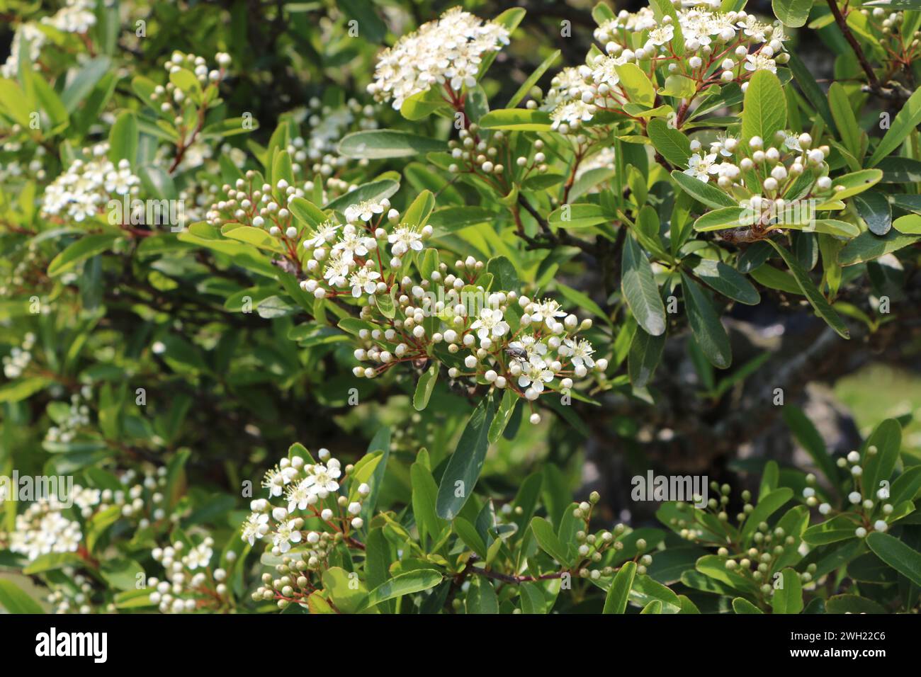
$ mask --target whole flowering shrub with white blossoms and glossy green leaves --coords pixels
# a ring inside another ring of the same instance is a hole
[[[0,606],[916,613],[915,0],[387,5],[11,5]]]

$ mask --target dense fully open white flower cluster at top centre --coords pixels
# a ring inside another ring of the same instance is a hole
[[[379,101],[393,99],[396,110],[436,84],[459,92],[476,85],[484,53],[507,44],[504,26],[453,7],[381,53],[367,91]]]

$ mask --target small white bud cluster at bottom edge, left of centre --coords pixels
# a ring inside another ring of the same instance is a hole
[[[214,545],[215,540],[205,536],[197,544],[176,541],[151,551],[165,577],[147,578],[146,587],[153,590],[150,601],[161,613],[215,612],[228,606],[227,570],[211,566]],[[226,557],[232,563],[236,554],[227,551]]]

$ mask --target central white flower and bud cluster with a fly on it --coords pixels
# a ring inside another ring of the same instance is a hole
[[[459,357],[467,353],[462,362],[455,359],[460,366],[449,368],[452,379],[485,381],[528,401],[547,388],[568,393],[574,379],[586,378],[589,370],[603,378],[608,361],[596,360],[592,345],[577,336],[591,327],[590,320],[579,321],[554,299],[485,291],[475,284],[484,263],[473,257],[456,262],[455,268],[457,274],[448,274],[447,264],[441,263],[431,280],[419,285],[408,277],[402,280],[392,319],[376,306],[362,309],[361,318],[374,328],[359,331],[363,344],[355,356],[371,364],[353,368],[356,377],[373,379],[395,364],[426,361],[447,350]],[[438,293],[431,291],[433,284]],[[531,423],[540,420],[540,414],[531,414]]]

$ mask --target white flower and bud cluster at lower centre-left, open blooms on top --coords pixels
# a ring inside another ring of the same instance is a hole
[[[269,552],[282,559],[275,566],[277,577],[263,574],[262,585],[252,594],[254,601],[277,601],[284,609],[291,601],[306,600],[316,589],[313,575],[321,575],[336,546],[362,547],[354,533],[364,527],[362,501],[371,493],[370,486],[352,481],[344,493],[354,466],[343,468],[329,449],[320,449],[317,458],[294,452],[282,459],[262,480],[269,498],[250,504],[252,512],[240,537],[251,545],[263,539],[270,542]]]

